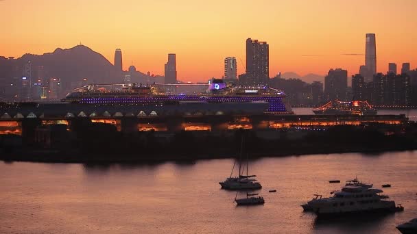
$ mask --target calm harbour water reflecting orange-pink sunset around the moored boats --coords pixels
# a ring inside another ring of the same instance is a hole
[[[417,218],[417,151],[305,155],[252,161],[265,205],[236,207],[220,190],[233,159],[156,165],[0,161],[0,233],[398,233]],[[359,179],[405,211],[316,220],[300,204]],[[276,193],[268,193],[275,189]]]

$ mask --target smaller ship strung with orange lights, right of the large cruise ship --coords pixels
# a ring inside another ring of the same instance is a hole
[[[314,114],[335,115],[375,115],[377,109],[372,108],[367,101],[329,101],[322,107],[313,109]]]

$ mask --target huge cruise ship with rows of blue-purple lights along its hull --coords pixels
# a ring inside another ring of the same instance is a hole
[[[243,103],[252,103],[249,106],[256,103],[266,103],[265,113],[294,114],[291,107],[285,103],[285,93],[267,86],[226,87],[225,83],[211,83],[208,90],[202,94],[171,94],[156,85],[136,86],[134,83],[122,85],[118,90],[98,87],[78,88],[75,92],[67,94],[62,101],[93,105],[156,105],[162,107],[184,103],[205,104],[207,107],[213,103],[235,103],[240,106]]]

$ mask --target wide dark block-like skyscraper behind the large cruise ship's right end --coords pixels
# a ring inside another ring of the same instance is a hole
[[[246,40],[247,84],[267,85],[270,79],[270,49],[267,42]]]

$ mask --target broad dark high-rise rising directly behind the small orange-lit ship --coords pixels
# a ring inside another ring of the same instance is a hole
[[[326,101],[345,101],[346,89],[348,88],[348,71],[342,68],[330,69],[324,77],[324,92]]]

